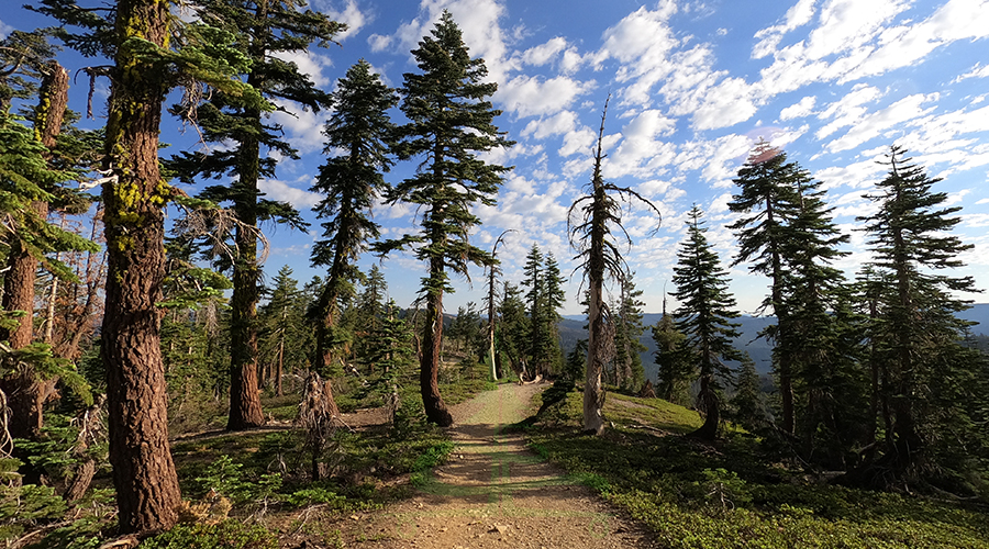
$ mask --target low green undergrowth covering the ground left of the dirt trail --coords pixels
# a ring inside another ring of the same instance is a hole
[[[377,404],[385,394],[382,385],[390,394],[392,383],[401,406],[393,424],[337,429],[318,458],[326,472],[319,481],[311,478],[311,453],[301,429],[203,435],[174,444],[184,497],[207,503],[222,497],[229,503],[224,513],[235,517],[312,505],[351,513],[408,497],[413,486],[430,481],[431,469],[443,463],[454,447],[444,429],[425,422],[415,370],[408,365],[389,378],[341,384],[347,392],[337,393],[337,400],[352,410]],[[441,393],[448,404],[497,386],[482,365],[457,363],[446,370]],[[265,411],[291,418],[298,406],[292,399],[267,400],[274,407]]]

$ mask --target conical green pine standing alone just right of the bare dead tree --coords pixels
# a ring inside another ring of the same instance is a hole
[[[732,378],[726,362],[742,359],[732,345],[740,324],[731,320],[740,315],[734,310],[735,299],[727,291],[727,271],[721,268],[704,236],[708,229],[703,226],[703,212],[694,204],[687,216],[687,239],[680,243],[674,268],[677,291],[673,295],[680,301],[674,316],[677,328],[687,336],[684,345],[700,379],[697,400],[704,424],[693,435],[713,439],[721,421],[719,391],[722,382]]]

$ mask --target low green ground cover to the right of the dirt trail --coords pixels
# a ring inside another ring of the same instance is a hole
[[[531,447],[652,527],[658,547],[989,548],[985,507],[812,482],[766,464],[743,433],[682,436],[697,413],[656,399],[609,393],[610,428],[584,435],[581,397],[546,411]]]

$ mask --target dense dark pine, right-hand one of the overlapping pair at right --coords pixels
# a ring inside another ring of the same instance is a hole
[[[782,288],[789,330],[777,346],[792,357],[797,430],[803,459],[831,468],[845,466],[845,453],[863,423],[864,394],[855,352],[845,277],[832,264],[848,254],[848,240],[831,219],[820,182],[796,163],[788,181],[794,186],[798,212],[788,228],[781,257],[789,267]]]

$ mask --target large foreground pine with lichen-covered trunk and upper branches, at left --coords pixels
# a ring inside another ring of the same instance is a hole
[[[165,267],[163,208],[178,193],[158,167],[158,126],[167,92],[179,81],[207,81],[226,94],[259,101],[231,78],[244,58],[231,35],[201,23],[176,24],[171,2],[122,0],[115,9],[43,0],[38,11],[80,26],[63,40],[84,55],[111,59],[103,183],[108,272],[100,358],[107,369],[110,461],[122,533],[168,528],[181,501],[169,451],[160,350]],[[112,18],[105,19],[104,15]],[[191,46],[191,47],[190,47]]]

